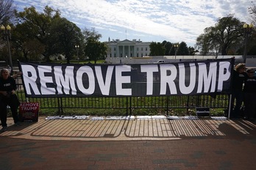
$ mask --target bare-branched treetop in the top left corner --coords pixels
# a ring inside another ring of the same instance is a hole
[[[7,24],[15,16],[15,6],[13,0],[0,1],[0,23]]]

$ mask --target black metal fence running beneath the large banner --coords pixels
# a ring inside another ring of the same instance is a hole
[[[37,102],[40,108],[55,108],[63,113],[64,108],[122,108],[127,115],[137,108],[163,108],[166,114],[171,108],[224,108],[229,106],[229,95],[193,95],[160,97],[40,97],[26,98],[21,78],[17,78],[17,95],[21,102]]]

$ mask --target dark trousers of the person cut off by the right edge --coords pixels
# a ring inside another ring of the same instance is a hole
[[[244,93],[244,113],[249,119],[256,114],[256,93]]]

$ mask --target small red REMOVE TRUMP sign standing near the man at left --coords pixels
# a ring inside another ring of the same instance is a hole
[[[39,103],[21,103],[19,111],[21,122],[38,122]]]

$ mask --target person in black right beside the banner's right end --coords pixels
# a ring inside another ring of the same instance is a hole
[[[239,63],[235,66],[235,70],[232,74],[231,118],[239,118],[242,116],[241,106],[243,103],[243,83],[248,77],[245,70],[246,65],[244,63]]]

